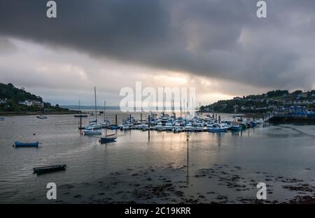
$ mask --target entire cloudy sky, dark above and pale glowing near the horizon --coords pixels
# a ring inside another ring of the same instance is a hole
[[[315,89],[315,1],[0,0],[0,82],[62,105],[195,87],[197,102]]]

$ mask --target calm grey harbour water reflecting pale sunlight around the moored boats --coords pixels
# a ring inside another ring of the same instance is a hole
[[[118,122],[127,114],[106,112]],[[226,115],[225,115],[226,116]],[[137,166],[186,164],[186,133],[117,131],[117,142],[100,145],[98,139],[81,136],[79,118],[73,115],[6,117],[0,121],[0,203],[27,203],[45,194],[46,184],[57,185],[98,180],[116,170]],[[139,114],[134,117],[140,117]],[[102,116],[99,116],[101,119]],[[83,118],[83,122],[94,117]],[[35,136],[34,136],[35,133]],[[261,126],[237,133],[191,133],[190,172],[215,163],[255,171],[312,180],[315,178],[315,126]],[[38,148],[14,148],[16,140],[35,141]],[[32,168],[66,163],[64,172],[37,176]]]

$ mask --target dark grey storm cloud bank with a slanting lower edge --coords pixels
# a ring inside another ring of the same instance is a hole
[[[0,34],[272,88],[314,86],[315,1],[2,0]]]

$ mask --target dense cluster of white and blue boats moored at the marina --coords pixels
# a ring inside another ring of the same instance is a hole
[[[209,132],[226,132],[226,131],[240,131],[241,129],[253,128],[264,122],[263,119],[243,119],[236,117],[233,119],[216,119],[214,115],[202,118],[201,115],[195,117],[176,117],[175,115],[169,116],[162,113],[160,117],[151,114],[150,119],[139,121],[134,117],[128,117],[123,120],[121,125],[112,125],[109,120],[102,124],[92,124],[85,127],[85,134],[102,134],[102,128],[120,129],[122,131],[130,129],[139,129],[142,131],[155,130],[155,131],[173,131],[179,133],[183,131],[209,131]]]

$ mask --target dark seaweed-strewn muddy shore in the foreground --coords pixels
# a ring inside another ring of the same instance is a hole
[[[102,179],[61,184],[55,201],[29,196],[29,203],[179,203],[296,204],[314,203],[314,180],[304,181],[265,172],[244,174],[244,168],[214,164],[187,177],[187,166],[138,166],[109,173]],[[312,168],[301,170],[314,170]],[[38,177],[40,178],[40,177]],[[267,184],[267,199],[258,200],[256,185]]]

